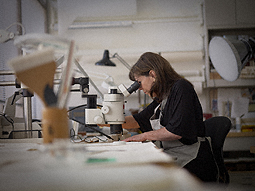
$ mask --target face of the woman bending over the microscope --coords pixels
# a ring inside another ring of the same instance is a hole
[[[143,90],[145,94],[150,95],[151,87],[155,82],[155,76],[149,73],[149,76],[135,76],[135,80],[140,83],[139,90]]]

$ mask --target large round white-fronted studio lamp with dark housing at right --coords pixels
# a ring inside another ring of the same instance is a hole
[[[227,81],[235,81],[243,67],[254,57],[255,40],[213,37],[209,43],[209,56],[219,75]]]

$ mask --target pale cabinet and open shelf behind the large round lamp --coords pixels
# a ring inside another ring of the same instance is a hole
[[[206,87],[250,87],[255,78],[241,78],[234,82],[221,79],[210,62],[208,45],[213,36],[255,37],[254,0],[205,0],[205,75]]]

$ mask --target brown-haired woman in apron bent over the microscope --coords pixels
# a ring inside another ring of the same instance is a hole
[[[202,181],[216,181],[217,166],[205,138],[202,107],[193,85],[158,54],[144,53],[129,78],[153,98],[143,111],[126,117],[123,128],[143,133],[124,141],[160,141],[164,152]]]

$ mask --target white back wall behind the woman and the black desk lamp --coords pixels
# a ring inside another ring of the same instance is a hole
[[[195,70],[201,73],[201,77],[204,65],[201,2],[202,0],[61,0],[58,1],[58,32],[62,37],[75,40],[82,67],[102,92],[106,90],[101,88],[102,79],[95,72],[101,73],[100,76],[112,76],[116,84],[131,84],[128,70],[117,59],[113,59],[117,64],[115,68],[95,66],[105,49],[110,51],[110,55],[117,52],[130,65],[146,51],[161,52],[178,72]],[[132,21],[133,24],[131,27],[68,29],[74,21],[116,19]],[[200,84],[202,78],[197,80]],[[91,88],[91,93],[94,92]],[[128,109],[139,107],[137,96],[128,98]],[[72,94],[69,104],[84,102],[79,97],[79,94]],[[143,100],[143,95],[141,99]]]

